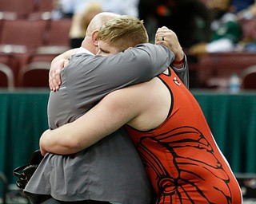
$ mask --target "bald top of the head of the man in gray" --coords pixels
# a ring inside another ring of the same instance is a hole
[[[86,36],[90,36],[91,33],[100,29],[106,22],[113,20],[114,18],[119,18],[120,16],[120,14],[114,14],[111,12],[102,12],[96,14],[87,27]]]

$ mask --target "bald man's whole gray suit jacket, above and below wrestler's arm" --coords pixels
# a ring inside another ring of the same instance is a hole
[[[173,60],[169,49],[150,44],[110,57],[74,55],[62,72],[61,89],[50,93],[50,128],[74,121],[117,88],[150,80]],[[75,155],[47,154],[25,191],[62,201],[154,203],[142,162],[123,128]]]

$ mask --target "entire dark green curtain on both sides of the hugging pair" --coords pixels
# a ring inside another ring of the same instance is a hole
[[[218,147],[235,173],[256,172],[256,92],[192,90]],[[14,183],[15,167],[28,163],[48,128],[49,92],[0,92],[0,171]]]

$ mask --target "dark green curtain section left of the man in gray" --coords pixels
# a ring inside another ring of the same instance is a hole
[[[15,167],[29,162],[48,127],[46,92],[0,93],[0,171],[14,183]]]

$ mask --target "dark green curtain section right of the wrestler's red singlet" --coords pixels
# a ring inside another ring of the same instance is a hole
[[[194,96],[232,170],[256,172],[256,92],[194,92]]]

